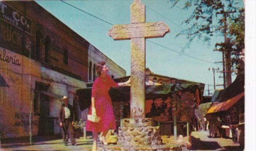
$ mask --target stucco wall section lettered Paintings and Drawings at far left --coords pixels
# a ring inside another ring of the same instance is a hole
[[[0,54],[0,74],[9,86],[0,87],[1,137],[28,136],[30,112],[33,113],[31,103],[34,96],[31,90],[35,87],[35,77],[40,76],[40,64],[1,47]],[[20,65],[6,61],[6,56],[15,56]],[[32,117],[32,132],[36,133],[38,119],[33,115]]]

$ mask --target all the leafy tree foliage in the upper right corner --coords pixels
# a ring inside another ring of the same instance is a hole
[[[176,35],[187,36],[188,48],[195,38],[209,43],[212,36],[223,35],[226,41],[216,44],[216,49],[230,51],[233,69],[237,69],[238,73],[244,71],[244,7],[238,7],[237,0],[170,1],[171,8],[184,3],[183,10],[193,10],[192,14],[182,22],[188,28]]]

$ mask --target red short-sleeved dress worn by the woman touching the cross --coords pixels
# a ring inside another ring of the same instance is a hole
[[[110,75],[106,76],[106,81],[99,77],[94,81],[91,97],[94,97],[96,115],[100,120],[98,123],[87,120],[87,131],[104,132],[106,129],[116,129],[112,101],[108,93],[111,87],[118,87],[118,83],[114,82]],[[89,114],[91,114],[91,106]]]

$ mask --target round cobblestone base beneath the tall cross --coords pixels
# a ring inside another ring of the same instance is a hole
[[[153,127],[152,118],[126,118],[123,127],[118,128],[117,145],[98,146],[99,151],[169,151],[162,144],[159,127]]]

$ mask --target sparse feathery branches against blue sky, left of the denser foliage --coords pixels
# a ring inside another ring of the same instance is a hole
[[[170,0],[173,2],[171,8],[176,6],[178,2],[184,3],[182,9],[193,9],[193,13],[184,20],[183,23],[188,25],[188,29],[181,31],[180,35],[187,35],[187,38],[192,41],[194,38],[204,38],[214,36],[214,33],[223,33],[224,25],[229,21],[234,20],[238,14],[238,7],[234,6],[233,0]],[[229,12],[229,13],[227,13]],[[225,19],[223,14],[225,14]],[[214,22],[214,19],[218,22]]]

